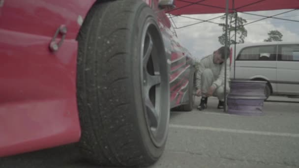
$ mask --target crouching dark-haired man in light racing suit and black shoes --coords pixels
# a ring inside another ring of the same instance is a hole
[[[230,61],[225,60],[225,50],[227,50],[227,57],[230,55],[229,48],[220,47],[212,55],[206,56],[195,66],[196,74],[196,95],[202,96],[198,110],[202,111],[208,106],[208,97],[214,96],[219,99],[218,109],[224,108],[224,72],[226,68],[226,90],[229,92],[230,80]]]

